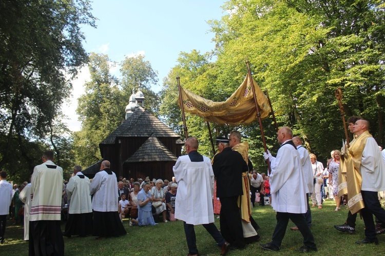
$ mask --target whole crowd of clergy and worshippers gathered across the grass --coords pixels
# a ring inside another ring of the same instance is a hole
[[[310,229],[311,207],[321,210],[323,200],[329,198],[335,200],[335,211],[342,204],[349,208],[346,222],[335,225],[337,230],[354,233],[360,211],[365,238],[357,243],[377,244],[376,235],[385,232],[385,210],[378,194],[385,190],[385,150],[381,152],[369,134],[367,120],[352,117],[348,123],[354,140],[350,147],[333,150],[325,168],[302,146],[300,137],[293,137],[290,127],[281,127],[276,157],[269,151],[263,154],[271,166],[269,176],[253,170],[248,143],[241,142],[239,131],[228,138],[217,137],[218,153],[212,160],[198,153],[197,138],[187,138],[187,155],[178,158],[170,182],[117,178],[105,160],[92,180],[75,165],[72,177],[63,184],[62,168],[54,164],[53,152],[46,151],[43,163],[34,168],[31,183],[12,187],[6,172],[0,172],[0,243],[4,243],[8,216],[15,225],[24,220],[30,255],[64,255],[63,236],[122,236],[126,234],[124,219],[130,226],[157,225],[159,219],[164,223],[180,220],[188,255],[199,255],[195,225],[203,225],[224,255],[230,248],[243,249],[259,241],[252,208],[256,203],[264,206],[266,201],[276,211],[277,224],[272,241],[259,245],[279,251],[288,220],[292,220],[295,226],[291,229],[303,236],[298,250],[311,252],[317,251]],[[215,214],[220,229],[214,225]],[[67,222],[62,232],[63,219]]]

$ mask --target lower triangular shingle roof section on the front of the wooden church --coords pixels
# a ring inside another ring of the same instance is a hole
[[[125,162],[177,161],[177,157],[156,137],[149,137]]]

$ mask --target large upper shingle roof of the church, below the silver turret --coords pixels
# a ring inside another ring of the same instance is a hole
[[[151,112],[139,107],[100,144],[114,144],[118,137],[150,137],[151,135],[155,137],[180,137]]]

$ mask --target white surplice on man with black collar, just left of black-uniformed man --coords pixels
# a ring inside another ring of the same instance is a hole
[[[203,162],[191,162],[188,156],[181,156],[172,168],[178,183],[175,218],[187,224],[214,222],[214,173],[210,159],[205,156],[203,159]]]

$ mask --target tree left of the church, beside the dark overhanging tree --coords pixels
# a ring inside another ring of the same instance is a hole
[[[78,99],[76,113],[82,121],[80,132],[74,134],[76,161],[89,166],[101,159],[99,143],[124,120],[127,104],[118,88],[119,80],[110,74],[114,63],[105,54],[90,53],[91,81],[86,93]]]

